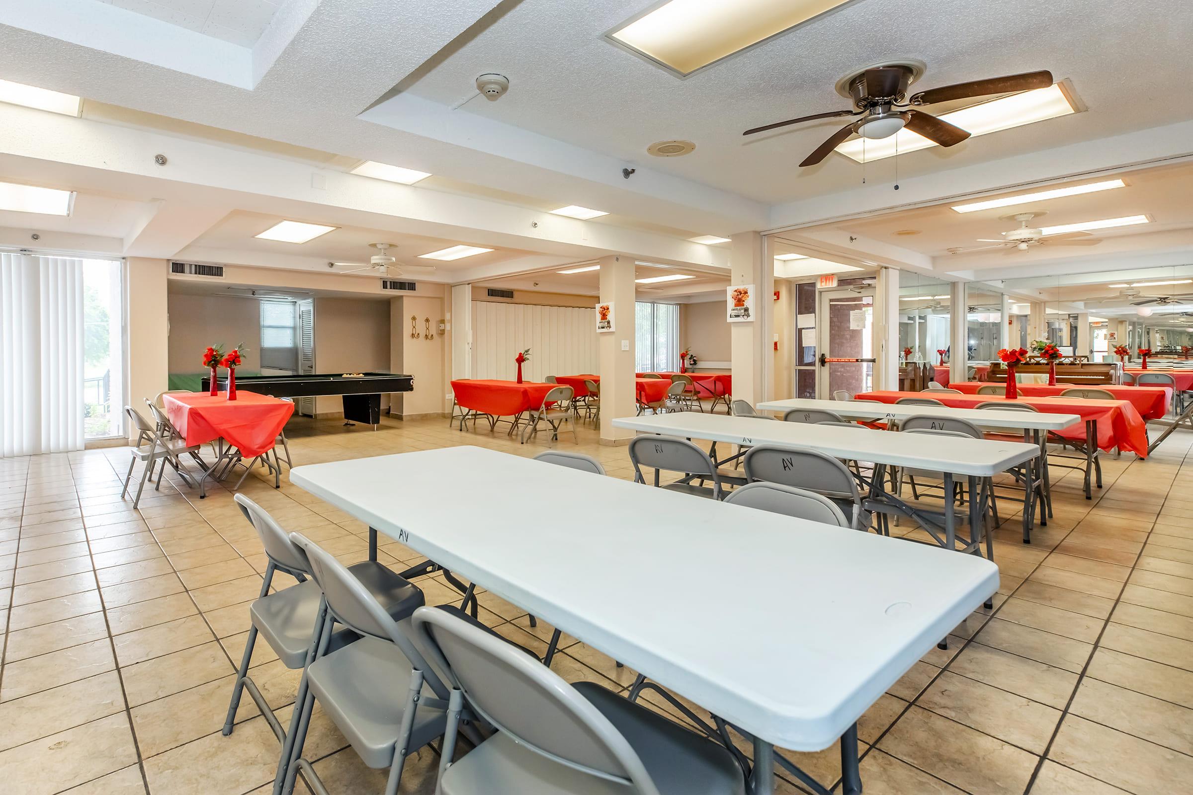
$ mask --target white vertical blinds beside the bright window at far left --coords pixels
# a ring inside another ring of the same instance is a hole
[[[82,448],[82,267],[0,254],[0,458]]]

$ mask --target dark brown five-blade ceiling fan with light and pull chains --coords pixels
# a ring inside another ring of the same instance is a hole
[[[821,162],[854,132],[866,138],[886,138],[905,126],[908,130],[920,133],[933,143],[938,143],[941,147],[952,147],[968,138],[970,133],[944,119],[915,110],[916,107],[973,97],[990,97],[994,94],[1010,94],[1036,88],[1047,88],[1052,85],[1051,72],[1026,72],[1018,75],[971,80],[969,82],[953,83],[952,86],[929,88],[909,98],[907,89],[921,74],[923,74],[922,63],[891,63],[863,69],[846,76],[836,85],[839,94],[853,100],[853,110],[802,116],[796,119],[775,122],[774,124],[746,130],[742,135],[766,132],[767,130],[799,124],[801,122],[812,122],[815,119],[832,119],[843,116],[861,117],[829,136],[824,143],[799,163],[801,167],[815,166]]]

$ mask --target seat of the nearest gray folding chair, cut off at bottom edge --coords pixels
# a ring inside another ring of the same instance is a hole
[[[599,684],[574,685],[633,747],[661,795],[744,795],[741,768],[719,745]],[[625,795],[623,784],[554,762],[497,733],[443,776],[444,795]]]

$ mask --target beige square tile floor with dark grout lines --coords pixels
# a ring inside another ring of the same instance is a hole
[[[600,447],[589,428],[579,446],[564,439],[561,447],[631,477],[625,448]],[[450,430],[445,420],[387,422],[376,433],[339,422],[291,428],[296,462],[460,443],[524,455],[550,445]],[[1191,443],[1179,431],[1151,460],[1107,456],[1093,502],[1076,476],[1061,478],[1056,517],[1031,546],[1003,501],[995,608],[975,613],[947,651],[926,654],[861,720],[869,795],[1193,788]],[[124,448],[0,460],[0,789],[268,791],[278,745],[252,700],[234,734],[220,733],[261,546],[223,489],[199,501],[167,482],[132,510],[119,496],[128,461]],[[251,477],[243,490],[345,560],[364,557],[366,528],[301,489]],[[395,567],[418,559],[396,544],[382,557]],[[439,579],[420,584],[428,603],[453,597]],[[531,629],[492,594],[480,601],[499,632],[544,648],[550,628]],[[596,650],[567,644],[555,664],[565,678],[614,690],[632,681]],[[285,723],[297,672],[261,642],[252,675]],[[332,793],[382,791],[384,771],[365,769],[319,713],[308,752]],[[822,780],[840,772],[835,750],[793,756]],[[435,765],[433,752],[419,752],[401,791],[432,793]],[[786,781],[778,790],[801,791]]]

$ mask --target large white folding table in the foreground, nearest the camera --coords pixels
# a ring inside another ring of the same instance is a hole
[[[977,555],[478,447],[290,479],[738,727],[759,795],[773,789],[773,746],[839,738],[842,789],[859,793],[858,719],[999,586]],[[710,583],[722,597],[692,596]]]

